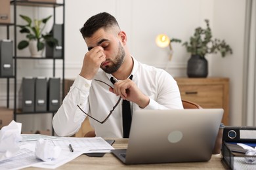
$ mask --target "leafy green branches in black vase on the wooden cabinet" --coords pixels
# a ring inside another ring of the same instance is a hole
[[[224,57],[226,54],[232,54],[232,48],[224,40],[213,39],[209,20],[205,20],[206,28],[197,27],[190,41],[182,45],[186,47],[187,52],[191,54],[188,60],[187,75],[188,77],[206,77],[208,74],[208,64],[205,55],[221,53]]]

